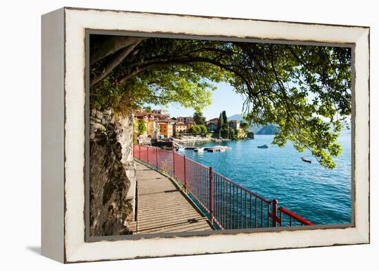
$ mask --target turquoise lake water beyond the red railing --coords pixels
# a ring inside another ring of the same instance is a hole
[[[342,154],[335,159],[334,170],[323,168],[307,150],[297,152],[291,143],[284,148],[270,144],[274,136],[256,135],[245,139],[201,145],[227,145],[225,152],[181,151],[188,158],[212,166],[228,177],[266,199],[278,199],[283,206],[316,224],[351,222],[351,135],[341,134]],[[300,160],[305,157],[312,163]]]

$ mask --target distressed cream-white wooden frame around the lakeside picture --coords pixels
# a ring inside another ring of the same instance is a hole
[[[89,33],[349,46],[352,223],[149,238],[85,236]],[[87,99],[87,101],[86,101]],[[369,243],[369,28],[62,8],[42,17],[42,254],[64,263]],[[359,132],[354,132],[359,131]]]

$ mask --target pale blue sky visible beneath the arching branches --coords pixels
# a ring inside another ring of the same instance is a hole
[[[227,83],[216,83],[217,90],[212,92],[212,105],[203,109],[203,116],[209,120],[216,118],[220,112],[225,110],[227,116],[242,113],[243,96],[233,91],[233,88]],[[156,108],[152,106],[152,108]],[[194,114],[194,109],[183,108],[183,106],[170,104],[167,107],[167,112],[171,117],[187,117]]]

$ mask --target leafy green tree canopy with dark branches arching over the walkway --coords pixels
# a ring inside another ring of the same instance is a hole
[[[321,165],[332,157],[351,112],[351,49],[268,43],[91,35],[91,106],[122,112],[144,103],[201,110],[214,83],[245,96],[249,123],[274,123],[279,146],[292,141]]]

